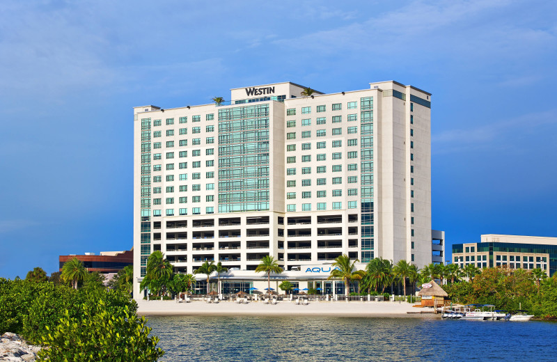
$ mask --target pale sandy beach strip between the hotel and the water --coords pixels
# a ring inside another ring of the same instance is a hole
[[[430,308],[414,308],[405,302],[391,301],[310,301],[308,305],[297,305],[294,301],[279,301],[277,304],[264,304],[252,301],[249,304],[236,304],[233,301],[221,301],[207,304],[205,301],[176,303],[175,301],[138,302],[139,315],[319,315],[338,317],[425,317],[432,314]],[[407,312],[412,312],[408,314]],[[416,314],[418,313],[418,314]]]

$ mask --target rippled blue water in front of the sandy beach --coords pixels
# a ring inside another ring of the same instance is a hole
[[[557,323],[149,317],[161,361],[557,361]]]

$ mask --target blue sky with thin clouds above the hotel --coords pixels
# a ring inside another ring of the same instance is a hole
[[[432,227],[557,237],[557,3],[11,1],[0,276],[132,246],[132,107],[293,81],[432,96]]]

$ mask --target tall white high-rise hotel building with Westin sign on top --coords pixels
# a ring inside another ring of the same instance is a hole
[[[395,81],[303,90],[266,84],[221,104],[134,108],[136,297],[155,250],[175,272],[221,261],[227,291],[265,288],[253,272],[264,255],[285,269],[277,285],[332,293],[344,287],[325,281],[327,269],[343,253],[443,262],[444,233],[431,229],[430,93]]]

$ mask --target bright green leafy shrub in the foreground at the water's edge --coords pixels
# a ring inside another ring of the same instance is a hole
[[[157,348],[159,339],[149,337],[151,329],[144,317],[138,319],[127,306],[116,315],[104,301],[83,304],[83,313],[72,317],[64,311],[54,328],[47,326],[47,336],[42,336],[40,360],[52,362],[96,361],[157,361],[164,352]]]

